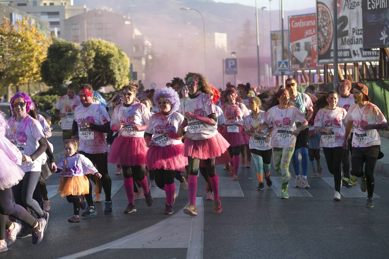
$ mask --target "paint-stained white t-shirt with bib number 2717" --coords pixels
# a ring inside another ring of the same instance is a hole
[[[252,118],[252,111],[250,112],[249,116],[246,116],[244,118],[244,130],[245,131],[250,131],[253,133],[257,133],[261,131],[261,125],[263,122],[265,122],[265,111],[259,110],[259,114],[257,118]],[[254,137],[250,137],[250,142],[249,142],[249,148],[250,149],[258,149],[258,150],[268,150],[272,148],[271,142],[269,141],[266,143],[265,137],[269,134],[269,128],[266,128],[261,134],[259,134],[259,138],[255,139]]]

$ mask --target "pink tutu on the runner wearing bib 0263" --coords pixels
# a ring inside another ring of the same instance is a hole
[[[184,156],[208,159],[221,156],[230,146],[219,132],[209,139],[193,140],[185,138]]]

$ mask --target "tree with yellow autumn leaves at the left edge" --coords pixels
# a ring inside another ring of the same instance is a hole
[[[40,65],[51,44],[27,19],[16,25],[17,29],[7,19],[0,24],[0,83],[7,87],[8,99],[11,86],[40,80]]]

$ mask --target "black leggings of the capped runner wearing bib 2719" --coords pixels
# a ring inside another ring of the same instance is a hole
[[[356,177],[365,177],[366,176],[366,186],[367,186],[367,197],[373,198],[374,192],[374,169],[375,163],[377,162],[376,157],[368,156],[352,156],[351,157],[351,174]],[[363,163],[365,163],[364,175],[363,175]]]

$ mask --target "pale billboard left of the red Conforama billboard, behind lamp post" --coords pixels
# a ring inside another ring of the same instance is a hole
[[[281,71],[278,70],[278,61],[289,60],[288,58],[288,30],[284,30],[284,58],[282,58],[281,31],[270,31],[270,48],[272,50],[272,75],[280,76]],[[287,75],[287,72],[285,72]]]

